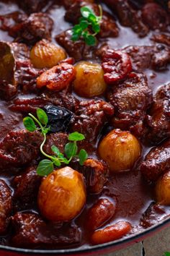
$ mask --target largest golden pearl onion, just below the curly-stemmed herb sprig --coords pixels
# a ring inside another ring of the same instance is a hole
[[[38,206],[42,216],[49,221],[71,221],[85,203],[84,178],[70,167],[53,171],[40,185]]]

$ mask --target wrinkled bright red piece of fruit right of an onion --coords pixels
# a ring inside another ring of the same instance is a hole
[[[132,71],[132,64],[128,54],[109,49],[102,58],[102,68],[105,82],[112,84],[124,79]]]

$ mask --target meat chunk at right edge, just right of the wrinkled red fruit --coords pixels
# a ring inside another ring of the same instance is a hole
[[[158,44],[156,46],[128,46],[124,50],[131,57],[133,69],[166,69],[170,63],[170,48]]]

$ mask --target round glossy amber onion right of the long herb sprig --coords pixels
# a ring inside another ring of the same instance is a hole
[[[141,146],[130,132],[114,129],[100,142],[98,151],[110,171],[128,171],[140,158]]]

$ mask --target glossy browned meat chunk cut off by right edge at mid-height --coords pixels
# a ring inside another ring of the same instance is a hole
[[[149,142],[159,143],[170,137],[170,83],[159,88],[154,102],[146,116]]]

